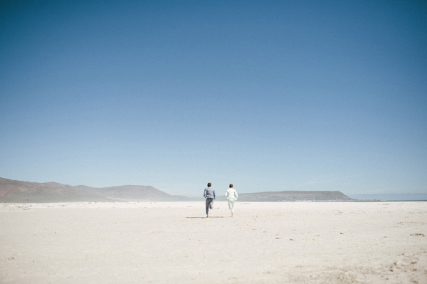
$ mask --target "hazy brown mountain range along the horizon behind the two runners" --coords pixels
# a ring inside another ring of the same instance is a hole
[[[171,195],[152,186],[112,186],[95,188],[56,182],[21,182],[0,178],[0,202],[43,203],[75,201],[198,201],[201,198]],[[218,201],[225,201],[217,194]],[[268,191],[241,193],[238,201],[352,201],[341,191]]]

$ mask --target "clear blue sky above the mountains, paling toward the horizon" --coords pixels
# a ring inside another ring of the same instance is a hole
[[[427,193],[425,1],[1,1],[0,177]]]

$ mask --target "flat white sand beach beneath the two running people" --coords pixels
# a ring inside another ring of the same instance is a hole
[[[427,202],[0,204],[0,283],[427,283]]]

